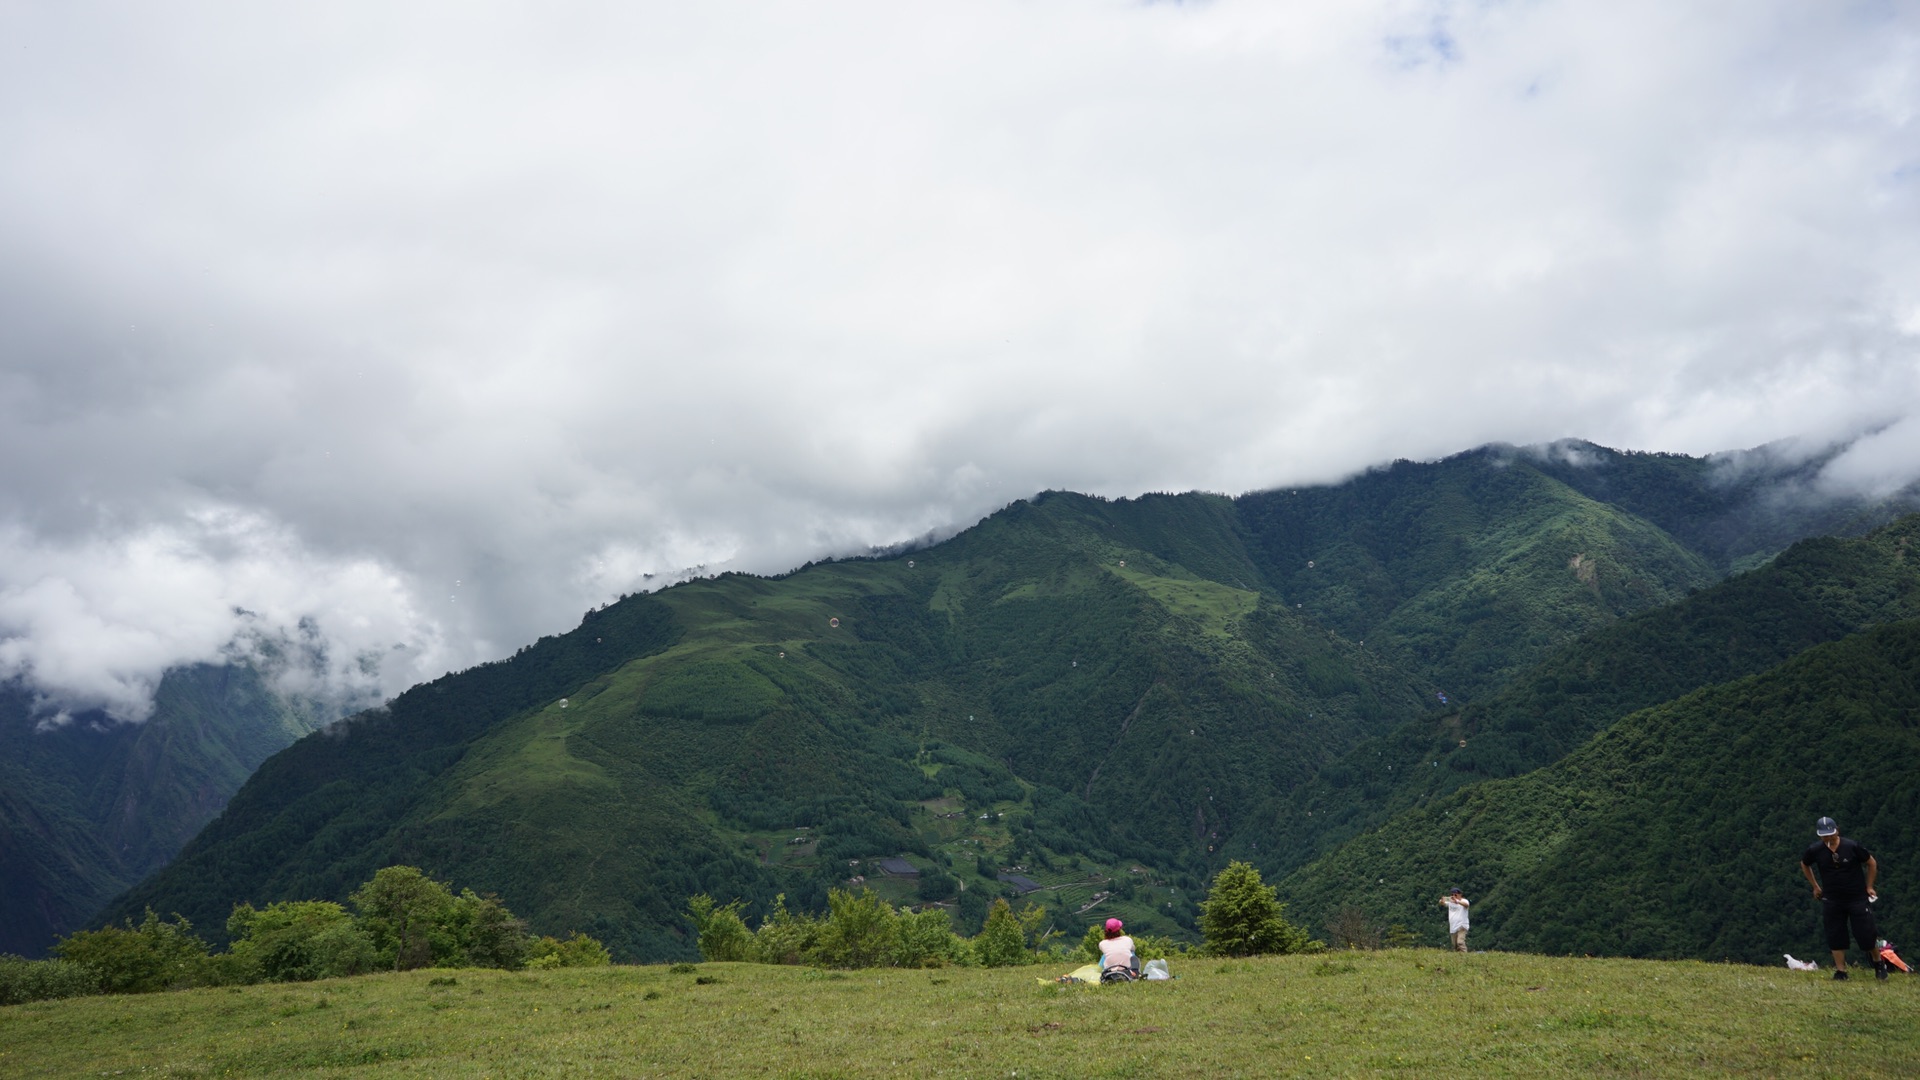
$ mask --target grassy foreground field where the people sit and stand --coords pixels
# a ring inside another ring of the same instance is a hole
[[[417,970],[0,1009],[0,1076],[1920,1074],[1920,978],[1402,949],[1054,969]]]

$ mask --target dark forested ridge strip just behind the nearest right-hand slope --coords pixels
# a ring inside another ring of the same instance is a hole
[[[1265,838],[1261,863],[1279,876],[1396,813],[1551,765],[1636,709],[1916,619],[1916,538],[1920,515],[1859,540],[1803,540],[1757,571],[1561,648],[1484,701],[1365,740],[1275,801],[1273,830],[1294,844]]]

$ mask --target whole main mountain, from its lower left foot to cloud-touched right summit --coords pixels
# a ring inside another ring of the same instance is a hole
[[[1229,851],[1311,849],[1275,799],[1354,748],[1430,742],[1461,701],[1492,736],[1517,673],[1834,515],[1753,471],[1576,450],[1238,500],[1044,494],[916,552],[626,598],[282,751],[104,917],[217,936],[236,901],[411,863],[628,959],[687,955],[693,892],[818,907],[849,880],[964,932],[1000,894],[1183,932]],[[1667,525],[1584,494],[1609,488]],[[1515,753],[1576,746],[1582,709]]]

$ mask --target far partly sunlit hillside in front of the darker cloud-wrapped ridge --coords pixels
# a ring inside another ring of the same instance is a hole
[[[1455,700],[1718,577],[1659,527],[1496,452],[1240,505],[1281,596]]]

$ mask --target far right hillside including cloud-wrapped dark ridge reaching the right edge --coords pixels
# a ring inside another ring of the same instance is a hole
[[[1920,509],[1914,492],[1820,496],[1822,461],[1486,446],[1236,505],[1281,596],[1471,701],[1584,632],[1795,540]]]

